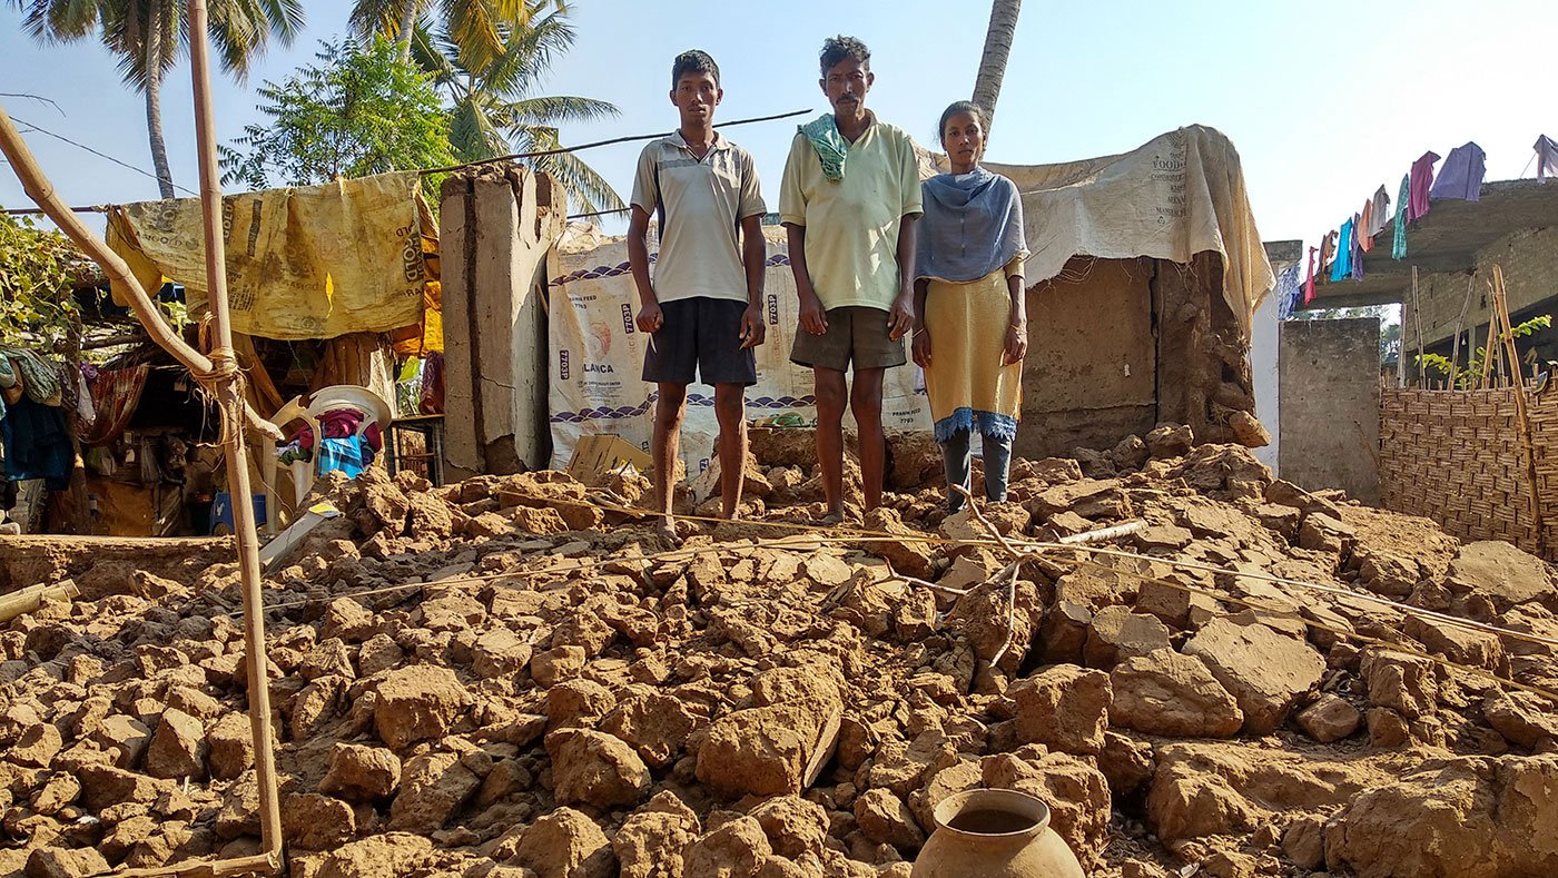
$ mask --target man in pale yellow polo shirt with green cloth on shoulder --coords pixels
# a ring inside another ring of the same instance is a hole
[[[796,132],[779,190],[779,220],[801,297],[801,332],[790,360],[812,367],[824,522],[840,522],[846,399],[860,428],[866,511],[882,504],[882,377],[907,361],[902,339],[915,321],[921,195],[908,134],[866,109],[876,83],[871,50],[855,37],[829,37],[821,68],[818,84],[834,112]],[[851,366],[852,391],[844,380]]]

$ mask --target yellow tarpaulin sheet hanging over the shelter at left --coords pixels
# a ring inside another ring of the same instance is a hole
[[[422,324],[419,188],[405,171],[224,198],[232,330],[296,341]],[[117,207],[108,241],[148,293],[167,277],[192,314],[206,310],[198,198]]]

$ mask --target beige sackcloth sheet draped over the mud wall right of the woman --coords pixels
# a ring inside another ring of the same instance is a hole
[[[1119,156],[985,167],[1011,177],[1022,193],[1028,286],[1056,277],[1073,255],[1189,263],[1198,252],[1217,251],[1223,297],[1250,338],[1251,318],[1276,277],[1250,210],[1239,153],[1221,132],[1192,125]]]

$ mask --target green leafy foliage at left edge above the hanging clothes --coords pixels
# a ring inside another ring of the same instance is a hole
[[[0,344],[53,349],[72,332],[79,262],[59,232],[0,213]]]

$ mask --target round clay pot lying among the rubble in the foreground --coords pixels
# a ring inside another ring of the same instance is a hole
[[[913,878],[1084,878],[1050,830],[1050,806],[1013,789],[971,789],[936,805]]]

